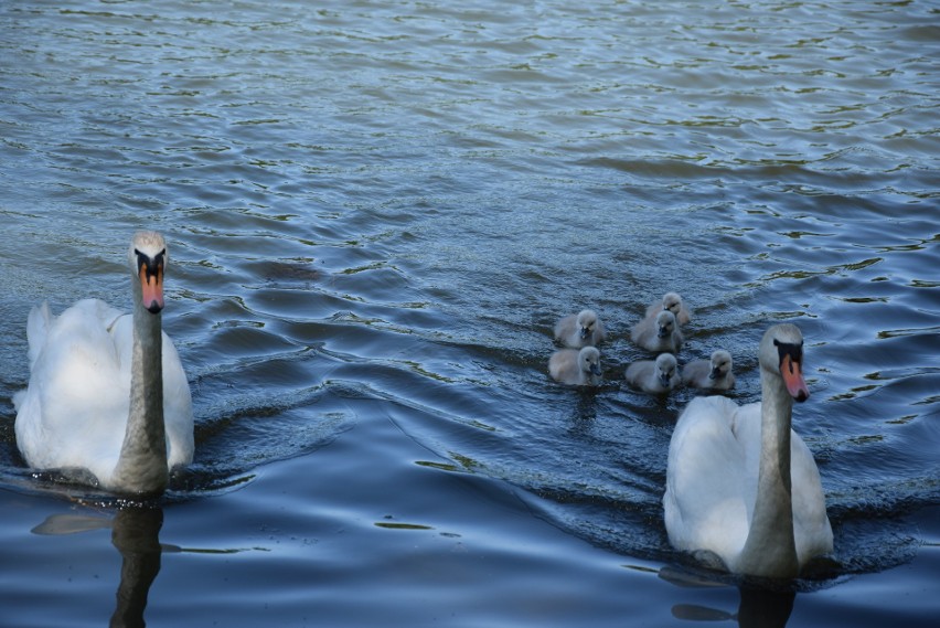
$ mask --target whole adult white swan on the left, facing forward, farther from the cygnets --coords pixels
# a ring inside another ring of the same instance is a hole
[[[26,323],[30,382],[13,398],[17,445],[30,467],[90,472],[120,493],[154,493],[192,461],[193,413],[180,358],[160,327],[169,256],[140,232],[128,252],[133,315],[97,299]],[[77,471],[77,473],[76,473]]]

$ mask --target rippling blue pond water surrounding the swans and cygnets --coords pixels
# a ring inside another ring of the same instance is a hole
[[[0,624],[936,625],[937,4],[17,0],[0,50]],[[25,468],[10,401],[137,228],[196,416],[143,504]],[[830,572],[676,578],[694,393],[622,384],[666,290],[739,403],[802,329]],[[546,372],[583,307],[596,390]]]

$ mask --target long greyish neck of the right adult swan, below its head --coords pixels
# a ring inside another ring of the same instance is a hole
[[[799,575],[793,539],[790,421],[793,400],[776,373],[761,369],[760,470],[750,530],[738,557],[739,573],[790,578]]]

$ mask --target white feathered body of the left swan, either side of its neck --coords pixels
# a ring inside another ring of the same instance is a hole
[[[120,455],[128,418],[132,319],[97,299],[58,317],[46,304],[26,322],[30,383],[14,397],[17,444],[40,469],[87,469],[103,483]],[[192,460],[192,400],[179,355],[163,347],[170,466]]]

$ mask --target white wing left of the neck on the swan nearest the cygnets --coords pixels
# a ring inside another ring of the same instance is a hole
[[[733,425],[738,406],[722,396],[690,402],[672,435],[663,497],[673,546],[709,550],[726,564],[748,533],[746,456]]]

